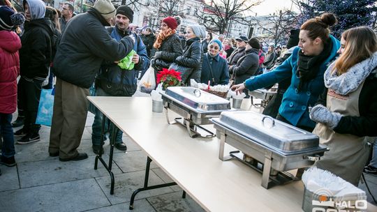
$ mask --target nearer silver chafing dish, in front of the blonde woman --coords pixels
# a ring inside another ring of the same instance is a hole
[[[252,111],[223,112],[211,119],[220,139],[219,158],[238,158],[263,173],[262,186],[300,179],[286,172],[313,165],[328,149],[319,144],[317,135]],[[239,151],[224,157],[225,143]],[[302,171],[302,169],[301,169]]]

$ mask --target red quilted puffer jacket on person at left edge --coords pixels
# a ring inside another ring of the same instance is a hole
[[[20,74],[21,40],[13,31],[0,31],[0,113],[12,114],[17,107],[17,76]]]

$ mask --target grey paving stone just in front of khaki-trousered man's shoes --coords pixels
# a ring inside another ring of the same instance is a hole
[[[110,176],[108,171],[98,162],[98,169],[94,170],[94,156],[86,160],[61,162],[58,157],[54,160],[36,162],[22,162],[18,164],[21,188],[66,181],[89,179],[96,176]],[[108,160],[104,156],[105,161]],[[121,173],[117,166],[112,167],[114,174]]]

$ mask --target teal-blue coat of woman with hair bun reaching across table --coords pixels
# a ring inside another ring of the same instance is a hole
[[[276,82],[280,82],[288,77],[291,78],[290,86],[284,93],[283,100],[279,108],[279,114],[287,119],[293,126],[306,126],[314,128],[316,123],[309,118],[308,107],[313,107],[320,94],[325,89],[323,74],[327,69],[330,61],[337,56],[340,42],[333,36],[330,36],[332,42],[332,50],[330,56],[320,65],[320,70],[314,79],[302,85],[302,89],[298,89],[300,79],[295,74],[297,72],[297,59],[300,51],[299,47],[293,50],[293,54],[286,59],[280,66],[269,73],[251,77],[245,81],[246,88],[250,91],[261,89],[265,86],[271,86]]]

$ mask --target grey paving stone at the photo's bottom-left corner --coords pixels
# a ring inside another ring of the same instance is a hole
[[[85,211],[110,202],[94,179],[1,192],[1,211]]]

